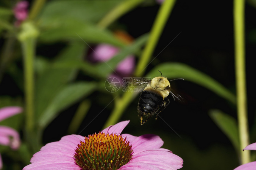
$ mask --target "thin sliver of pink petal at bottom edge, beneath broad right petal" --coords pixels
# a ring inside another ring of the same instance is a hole
[[[159,169],[148,163],[128,162],[127,164],[121,166],[118,170],[159,170]]]

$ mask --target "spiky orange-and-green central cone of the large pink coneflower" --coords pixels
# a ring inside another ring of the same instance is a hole
[[[131,147],[121,135],[99,132],[80,141],[74,158],[84,170],[115,170],[131,160]]]

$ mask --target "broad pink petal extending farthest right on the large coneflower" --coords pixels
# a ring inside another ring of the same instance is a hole
[[[162,148],[135,153],[132,162],[147,163],[159,169],[180,169],[183,165],[182,158]]]

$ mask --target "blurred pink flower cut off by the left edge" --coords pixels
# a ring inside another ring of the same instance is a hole
[[[0,109],[0,121],[8,117],[16,115],[22,112],[21,107],[3,107]],[[13,150],[18,149],[20,146],[20,135],[13,128],[7,126],[0,126],[0,144],[10,146]],[[0,155],[0,169],[2,169],[3,163]]]

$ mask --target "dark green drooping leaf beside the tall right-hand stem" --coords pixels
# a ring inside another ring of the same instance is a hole
[[[236,151],[239,153],[238,125],[235,118],[220,110],[211,110],[209,115],[221,131],[230,139]]]

